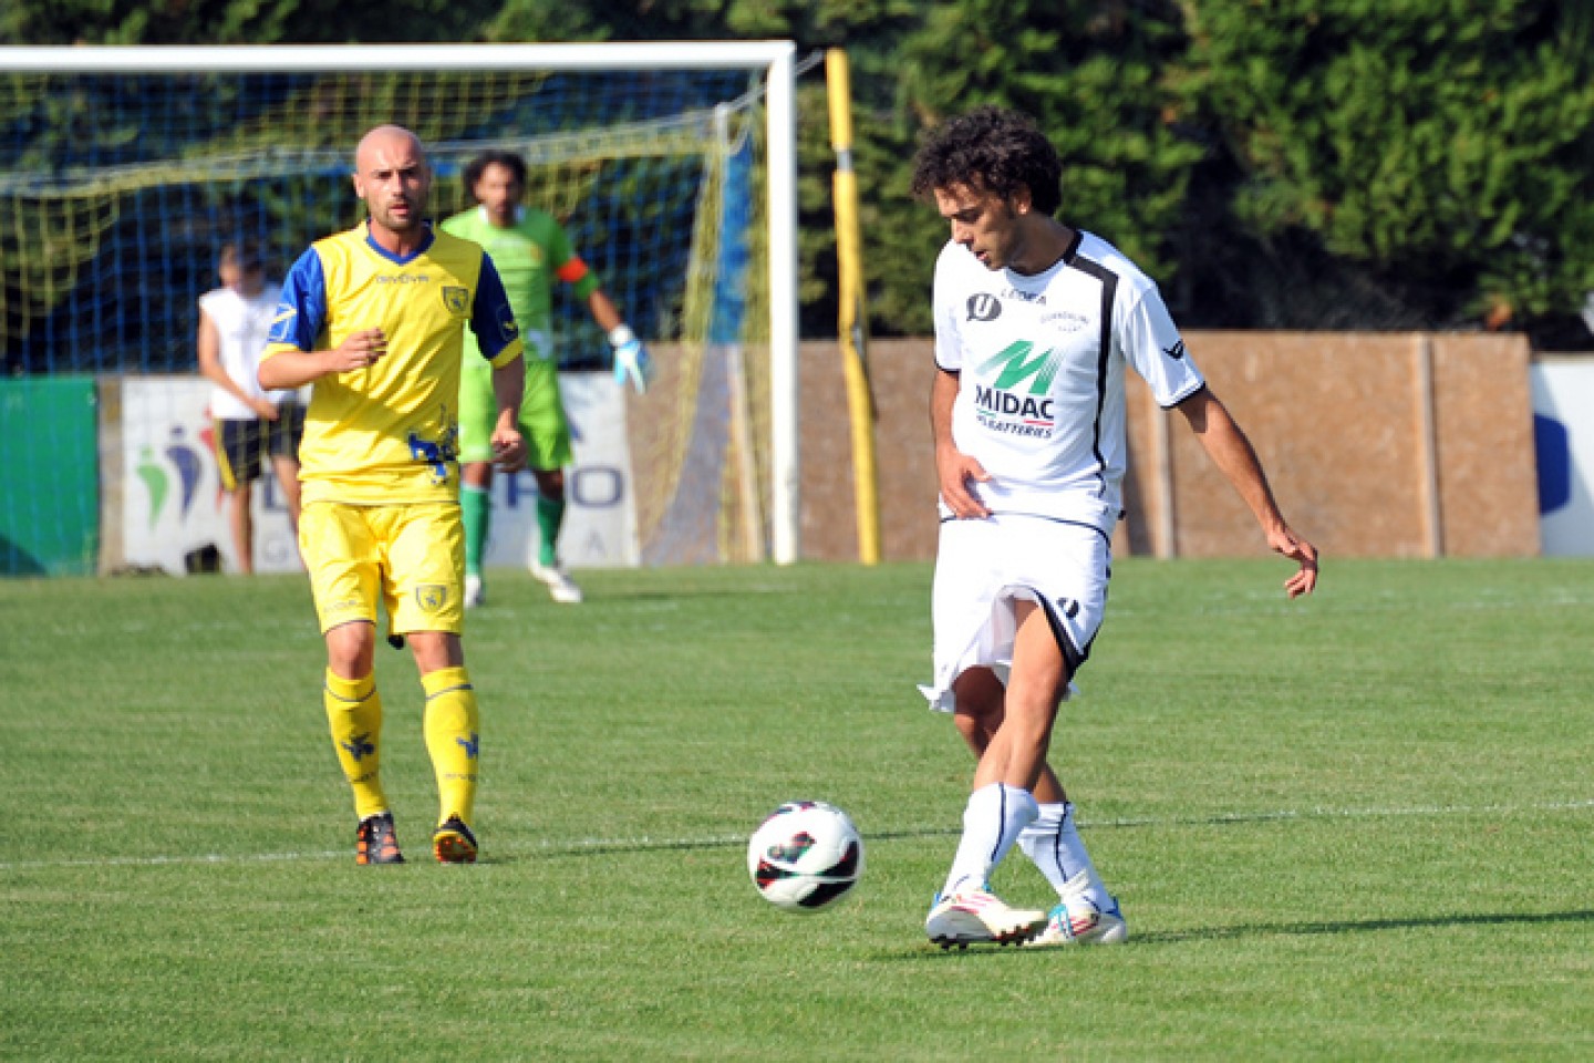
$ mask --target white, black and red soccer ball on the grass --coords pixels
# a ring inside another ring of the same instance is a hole
[[[818,912],[864,873],[864,840],[835,805],[786,802],[748,843],[748,873],[786,912]]]

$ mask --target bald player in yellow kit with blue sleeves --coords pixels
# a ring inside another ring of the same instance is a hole
[[[493,453],[516,472],[526,461],[521,341],[493,260],[424,218],[432,171],[419,139],[371,129],[354,166],[370,218],[317,241],[289,271],[258,376],[266,389],[314,384],[300,448],[300,550],[327,639],[322,700],[354,789],[355,862],[403,862],[379,775],[373,668],[384,606],[426,692],[440,802],[432,851],[443,864],[470,864],[480,736],[459,641],[461,357],[469,327],[494,370]]]

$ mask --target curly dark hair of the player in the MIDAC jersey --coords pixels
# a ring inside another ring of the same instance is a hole
[[[1035,120],[1001,107],[976,107],[929,132],[913,158],[913,196],[966,185],[1009,199],[1020,186],[1041,214],[1063,202],[1063,163]]]

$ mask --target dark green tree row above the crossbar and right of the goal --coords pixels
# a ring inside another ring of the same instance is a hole
[[[1594,290],[1594,5],[1581,0],[11,0],[0,41],[792,38],[853,69],[870,325],[923,333],[945,228],[918,137],[1033,113],[1065,222],[1180,320],[1535,335]],[[829,116],[799,84],[803,330],[835,324]],[[1580,327],[1578,327],[1580,328]],[[1583,343],[1586,333],[1578,331]]]

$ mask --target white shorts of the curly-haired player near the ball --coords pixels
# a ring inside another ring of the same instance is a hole
[[[1089,524],[1014,513],[942,521],[931,604],[936,679],[920,687],[929,708],[952,712],[952,684],[969,668],[1007,682],[1019,599],[1046,610],[1070,676],[1078,673],[1101,626],[1111,575],[1111,543]],[[1078,693],[1073,682],[1068,688]]]

